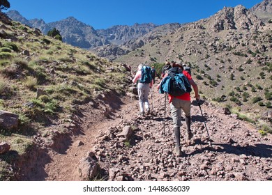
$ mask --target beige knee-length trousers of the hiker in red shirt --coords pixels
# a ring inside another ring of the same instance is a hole
[[[184,111],[185,116],[190,116],[191,101],[173,98],[170,107],[174,127],[181,127],[181,109]]]

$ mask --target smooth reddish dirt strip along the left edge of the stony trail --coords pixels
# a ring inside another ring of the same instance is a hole
[[[75,172],[80,159],[94,150],[93,148],[99,134],[107,130],[108,127],[119,123],[123,109],[132,107],[136,101],[126,98],[123,102],[124,104],[121,105],[120,109],[114,110],[113,116],[111,116],[112,119],[105,119],[103,112],[93,112],[93,108],[90,105],[85,105],[82,108],[82,116],[84,117],[82,118],[81,134],[72,137],[71,145],[68,146],[64,153],[50,150],[51,162],[45,165],[45,172],[47,173],[45,180],[78,180]],[[98,117],[97,115],[101,116]],[[103,121],[100,122],[99,120]]]

